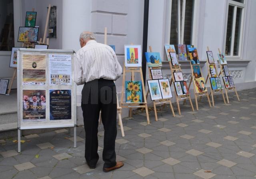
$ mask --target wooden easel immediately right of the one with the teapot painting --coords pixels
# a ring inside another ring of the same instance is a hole
[[[173,85],[174,85],[175,79],[174,79],[173,73],[174,72],[182,72],[182,70],[181,70],[180,65],[172,66],[172,61],[169,61],[169,66],[170,66],[170,70],[172,72],[172,79],[171,79],[170,85],[172,85],[172,82],[173,82]],[[174,85],[174,88],[175,88],[175,85]],[[188,89],[189,89],[189,87],[188,87]],[[185,103],[185,100],[188,98],[189,102],[190,102],[190,105],[191,105],[191,108],[192,108],[192,111],[195,111],[194,110],[194,106],[192,104],[192,100],[191,100],[190,94],[185,94],[185,95],[178,96],[176,92],[174,92],[174,93],[175,93],[175,96],[176,96],[176,103],[177,103],[179,115],[181,115],[179,100],[184,100],[184,103]]]

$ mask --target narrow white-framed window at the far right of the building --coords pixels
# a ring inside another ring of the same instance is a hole
[[[225,43],[225,55],[228,57],[239,57],[241,53],[244,7],[244,0],[229,0],[228,2]]]

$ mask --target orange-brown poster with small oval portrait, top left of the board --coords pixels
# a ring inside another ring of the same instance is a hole
[[[22,54],[22,85],[46,84],[46,55]]]

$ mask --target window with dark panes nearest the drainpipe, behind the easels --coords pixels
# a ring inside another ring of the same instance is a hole
[[[192,45],[194,0],[172,0],[170,44]]]

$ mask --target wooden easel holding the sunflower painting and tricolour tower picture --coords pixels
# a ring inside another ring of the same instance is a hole
[[[123,102],[126,73],[131,73],[131,81],[134,81],[134,74],[135,73],[140,73],[144,102]],[[126,66],[124,64],[123,81],[122,81],[122,95],[121,95],[121,107],[122,108],[129,108],[129,117],[132,117],[132,108],[145,108],[147,122],[148,122],[148,124],[150,124],[149,115],[148,115],[148,104],[147,104],[147,98],[146,98],[146,93],[145,93],[145,86],[144,86],[144,80],[143,80],[142,68],[141,67],[127,67],[127,69],[126,69]]]

